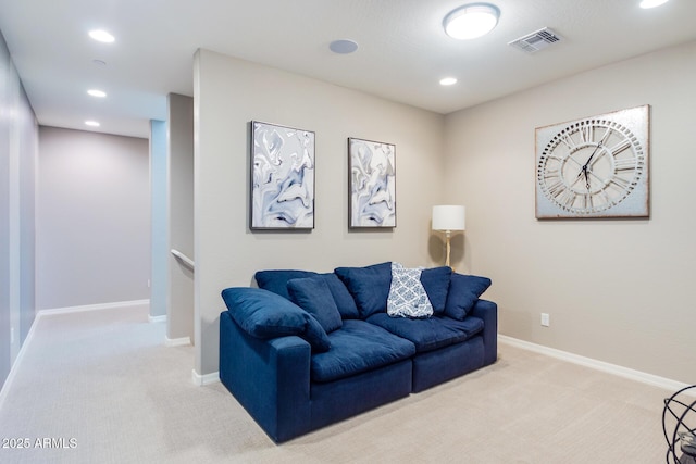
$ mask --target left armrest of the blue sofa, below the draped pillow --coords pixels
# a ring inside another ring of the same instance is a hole
[[[254,338],[220,315],[220,379],[275,441],[309,430],[310,354],[297,336]]]

